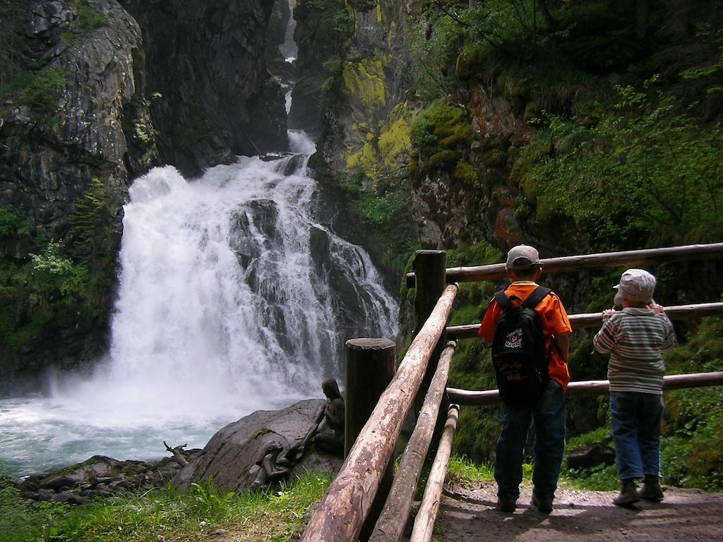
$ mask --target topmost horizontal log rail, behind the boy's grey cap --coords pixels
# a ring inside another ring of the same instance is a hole
[[[643,249],[622,252],[600,252],[580,256],[563,256],[543,259],[545,273],[591,269],[593,267],[618,267],[680,262],[688,259],[723,257],[723,243],[669,246],[662,249]],[[474,267],[448,267],[448,283],[469,283],[480,280],[499,280],[505,277],[505,264],[479,265]],[[414,288],[414,273],[406,275],[408,288]]]

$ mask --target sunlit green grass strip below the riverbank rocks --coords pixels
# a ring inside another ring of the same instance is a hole
[[[0,529],[6,542],[196,541],[220,528],[234,533],[234,540],[280,542],[301,527],[329,483],[328,476],[309,472],[258,493],[237,495],[207,482],[188,491],[168,486],[71,507],[27,504],[0,482]]]

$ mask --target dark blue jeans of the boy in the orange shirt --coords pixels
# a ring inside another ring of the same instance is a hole
[[[565,392],[550,380],[534,407],[504,405],[505,421],[497,439],[495,480],[500,499],[517,500],[522,481],[522,460],[530,422],[534,421],[535,445],[532,470],[533,494],[554,499],[565,450]]]

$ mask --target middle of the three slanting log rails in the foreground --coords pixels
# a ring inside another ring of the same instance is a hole
[[[432,434],[435,430],[442,396],[447,386],[450,361],[452,361],[455,346],[455,343],[450,342],[442,350],[437,371],[435,371],[429,391],[424,397],[424,405],[419,412],[409,442],[404,448],[392,489],[389,491],[387,502],[369,542],[397,542],[401,538],[411,510],[411,503],[414,500],[416,484],[419,483],[419,475],[422,473],[424,459],[427,457],[429,444],[432,442]]]

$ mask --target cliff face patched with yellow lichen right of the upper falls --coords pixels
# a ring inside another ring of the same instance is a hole
[[[335,39],[310,4],[301,1],[294,12],[299,84],[290,124],[320,131],[322,158],[337,171],[402,163],[411,121],[403,4],[355,0],[346,11],[336,7]]]

